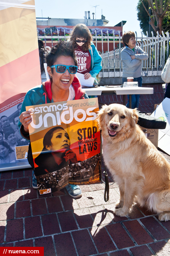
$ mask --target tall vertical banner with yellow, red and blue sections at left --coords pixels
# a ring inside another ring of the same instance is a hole
[[[41,84],[35,2],[0,1],[0,171],[30,167],[17,123],[27,91]]]

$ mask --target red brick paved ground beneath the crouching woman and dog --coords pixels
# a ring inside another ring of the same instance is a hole
[[[38,195],[31,176],[31,169],[0,173],[0,246],[44,246],[45,256],[170,255],[170,221],[138,205],[129,217],[113,214],[119,189],[111,177],[105,202],[104,184],[81,186],[75,200],[65,189]]]

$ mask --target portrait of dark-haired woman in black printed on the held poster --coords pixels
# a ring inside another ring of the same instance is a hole
[[[50,129],[43,139],[43,150],[34,161],[36,176],[61,170],[72,163],[77,163],[76,154],[70,149],[70,138],[63,127]]]

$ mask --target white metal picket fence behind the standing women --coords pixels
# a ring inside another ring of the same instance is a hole
[[[96,32],[96,30],[95,30]],[[113,31],[113,36],[111,34],[103,35],[102,30],[101,30],[101,35],[97,36],[97,33],[93,36],[93,42],[96,43],[96,48],[98,49],[98,43],[102,43],[102,72],[99,73],[100,77],[120,77],[122,76],[122,60],[121,60],[121,50],[124,47],[121,47],[122,45],[122,37],[120,36],[120,31],[119,35],[115,35]],[[136,33],[136,32],[135,32]],[[169,32],[162,32],[162,35],[159,35],[157,32],[156,37],[154,37],[153,32],[152,37],[148,37],[148,32],[147,36],[144,36],[141,32],[141,37],[137,36],[136,33],[136,45],[141,47],[143,51],[147,52],[149,55],[148,60],[142,60],[142,70],[143,70],[143,75],[144,76],[158,76],[161,74],[166,60],[169,57]],[[38,34],[38,30],[37,30]],[[51,35],[46,35],[46,31],[44,30],[44,35],[40,36],[38,34],[38,39],[43,39],[46,40],[51,39],[51,44],[56,44],[56,41],[54,40],[68,40],[70,37],[65,35],[65,30],[64,30],[64,36],[60,36],[59,32],[58,35],[52,35],[52,30],[51,30]],[[103,51],[103,44],[107,42],[107,51],[104,53]],[[109,46],[111,47],[111,44],[113,44],[112,48],[114,49],[113,51],[109,51]],[[112,70],[111,70],[112,69]]]

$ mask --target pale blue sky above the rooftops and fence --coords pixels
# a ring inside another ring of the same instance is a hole
[[[126,20],[123,32],[128,30],[136,31],[140,37],[141,29],[136,11],[137,3],[138,0],[35,0],[35,11],[36,17],[42,17],[43,12],[43,17],[79,19],[84,18],[85,11],[90,11],[90,18],[92,18],[92,12],[95,13],[95,8],[92,6],[98,5],[96,8],[97,19],[101,19],[103,14],[109,20],[108,26],[114,26],[122,20]]]

